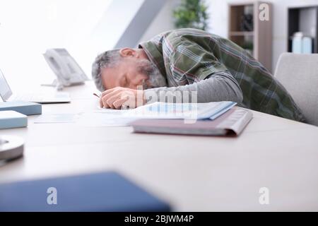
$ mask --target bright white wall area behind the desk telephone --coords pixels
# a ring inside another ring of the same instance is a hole
[[[1,0],[0,69],[13,91],[52,82],[42,53],[66,48],[90,77],[96,55],[111,49],[143,0]]]

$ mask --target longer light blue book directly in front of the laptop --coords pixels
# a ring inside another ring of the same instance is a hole
[[[42,105],[34,102],[7,101],[0,103],[0,111],[16,111],[25,115],[42,114]]]

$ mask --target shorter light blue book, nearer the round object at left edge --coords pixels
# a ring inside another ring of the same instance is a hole
[[[0,129],[28,126],[28,117],[19,112],[0,111]]]

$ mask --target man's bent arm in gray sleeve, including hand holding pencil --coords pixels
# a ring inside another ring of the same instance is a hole
[[[141,95],[138,95],[138,92],[141,92]],[[138,97],[140,101],[138,101]],[[120,109],[124,103],[129,107],[137,107],[145,103],[143,98],[146,99],[146,103],[156,101],[195,103],[228,100],[238,104],[243,99],[242,90],[235,78],[228,71],[222,71],[191,85],[161,87],[143,91],[122,87],[112,88],[102,93],[100,107]]]

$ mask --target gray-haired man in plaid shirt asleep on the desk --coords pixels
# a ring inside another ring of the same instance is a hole
[[[170,30],[136,49],[104,52],[96,57],[92,76],[102,91],[101,107],[136,107],[181,94],[182,102],[228,100],[305,121],[293,98],[259,61],[234,42],[202,30]],[[184,98],[183,93],[196,97]]]

